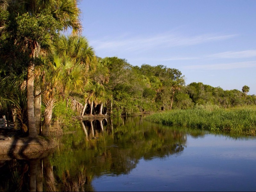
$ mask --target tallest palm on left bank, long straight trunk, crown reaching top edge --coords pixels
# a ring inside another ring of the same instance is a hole
[[[23,52],[27,52],[30,62],[27,67],[27,99],[28,99],[28,125],[29,137],[37,137],[34,115],[34,69],[36,51],[40,50],[41,44],[49,44],[50,39],[56,36],[56,31],[72,29],[72,35],[81,32],[79,20],[80,9],[76,0],[14,0],[6,1],[9,14],[15,18],[16,29],[5,32],[16,37],[15,44],[20,44]],[[19,7],[17,10],[16,8]],[[6,22],[8,25],[10,22]],[[28,50],[28,51],[27,51]]]

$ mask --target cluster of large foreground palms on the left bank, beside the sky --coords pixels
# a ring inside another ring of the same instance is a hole
[[[0,107],[11,110],[30,137],[48,136],[56,102],[68,100],[80,113],[84,106],[75,94],[84,95],[86,103],[99,102],[90,76],[97,58],[81,36],[81,11],[76,0],[5,0],[0,5]],[[92,91],[85,92],[89,86]]]

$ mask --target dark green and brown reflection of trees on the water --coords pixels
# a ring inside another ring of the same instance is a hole
[[[83,121],[72,129],[51,155],[1,161],[1,191],[93,191],[94,177],[128,174],[142,158],[180,153],[188,131],[140,116]]]

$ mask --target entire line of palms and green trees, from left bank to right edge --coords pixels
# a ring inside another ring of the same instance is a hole
[[[48,136],[67,116],[256,104],[247,85],[242,91],[186,85],[175,68],[96,56],[81,35],[76,0],[4,0],[0,6],[0,115],[16,119],[30,137]]]

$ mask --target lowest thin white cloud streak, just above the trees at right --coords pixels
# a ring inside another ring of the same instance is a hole
[[[212,65],[190,65],[184,66],[183,69],[204,69],[204,70],[227,70],[236,68],[252,68],[256,67],[256,61],[220,63]]]

